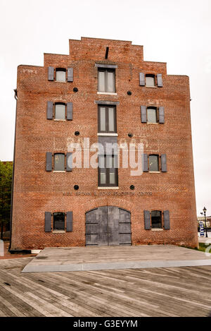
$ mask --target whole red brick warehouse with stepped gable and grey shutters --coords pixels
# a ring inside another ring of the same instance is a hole
[[[18,66],[11,250],[198,246],[188,77],[143,61],[132,42],[69,46]],[[123,155],[139,145],[143,173],[132,176]]]

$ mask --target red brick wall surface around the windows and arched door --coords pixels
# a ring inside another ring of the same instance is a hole
[[[116,95],[97,94],[96,63],[117,64]],[[49,81],[49,66],[72,67],[73,82]],[[140,72],[161,73],[162,88],[140,86]],[[143,61],[142,46],[82,37],[70,40],[70,55],[44,54],[43,67],[18,66],[17,91],[11,249],[84,246],[85,212],[107,205],[131,212],[133,245],[198,246],[187,76],[167,75],[165,63]],[[116,108],[118,143],[143,143],[147,154],[165,153],[167,172],[130,176],[130,169],[120,167],[119,188],[99,190],[98,169],[46,171],[46,152],[68,152],[68,143],[83,143],[87,137],[90,144],[97,142],[96,100],[120,102]],[[72,121],[46,119],[48,101],[72,102]],[[141,105],[165,107],[165,124],[141,123]],[[129,138],[128,133],[134,136]],[[146,230],[143,210],[169,210],[170,229]],[[72,211],[72,231],[45,232],[45,212],[58,211]]]

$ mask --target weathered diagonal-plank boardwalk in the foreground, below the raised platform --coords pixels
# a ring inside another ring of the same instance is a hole
[[[21,273],[0,261],[0,316],[207,316],[211,266]]]

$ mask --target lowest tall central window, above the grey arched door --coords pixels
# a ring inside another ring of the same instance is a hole
[[[118,186],[117,155],[99,155],[98,186]]]

